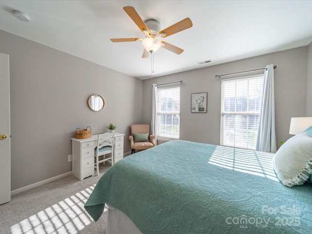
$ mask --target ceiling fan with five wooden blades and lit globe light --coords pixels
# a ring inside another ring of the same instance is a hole
[[[126,42],[126,41],[142,41],[144,46],[144,52],[142,58],[148,58],[150,53],[156,52],[159,47],[163,47],[176,54],[181,54],[183,50],[165,41],[160,41],[158,37],[165,38],[187,28],[193,26],[190,18],[185,18],[170,27],[160,30],[160,23],[156,20],[146,20],[145,22],[137,14],[137,11],[132,6],[123,7],[124,11],[130,16],[130,18],[137,24],[137,26],[144,33],[145,39],[141,38],[119,38],[111,39],[113,42]]]

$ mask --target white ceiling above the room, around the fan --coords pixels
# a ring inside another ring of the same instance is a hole
[[[184,49],[159,48],[153,77],[287,50],[312,41],[312,0],[0,0],[0,29],[140,79],[151,77],[144,38],[122,9],[133,6],[161,29],[189,17],[193,27],[163,40]],[[13,10],[30,22],[15,18]],[[1,40],[0,40],[1,43]],[[211,59],[199,65],[197,62]],[[256,68],[255,68],[256,69]]]

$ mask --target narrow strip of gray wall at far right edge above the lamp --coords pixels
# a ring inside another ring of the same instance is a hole
[[[312,42],[307,55],[307,117],[312,117]]]

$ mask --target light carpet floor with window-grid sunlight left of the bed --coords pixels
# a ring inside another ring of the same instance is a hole
[[[0,205],[0,234],[105,234],[107,210],[95,222],[83,208],[110,165],[79,181],[73,175],[24,191]]]

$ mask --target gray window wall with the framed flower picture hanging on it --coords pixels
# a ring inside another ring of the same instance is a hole
[[[279,147],[280,141],[292,137],[289,135],[291,117],[306,116],[307,51],[308,47],[305,46],[143,80],[143,106],[151,106],[153,83],[183,80],[180,97],[180,139],[218,145],[220,143],[221,82],[220,79],[215,78],[215,75],[248,71],[274,64],[277,66],[274,70],[275,124],[277,147]],[[311,87],[308,90],[312,93]],[[208,92],[208,112],[191,113],[191,94],[202,92]],[[143,120],[146,123],[150,122],[151,113],[151,108],[143,110]]]

